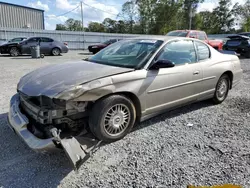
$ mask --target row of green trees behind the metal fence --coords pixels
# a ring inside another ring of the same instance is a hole
[[[197,29],[209,34],[250,31],[250,0],[233,4],[219,0],[212,11],[197,12],[204,0],[129,0],[117,19],[90,22],[82,28],[80,20],[68,19],[56,30],[130,34],[166,34],[177,29]]]

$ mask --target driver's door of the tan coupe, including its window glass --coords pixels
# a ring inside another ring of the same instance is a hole
[[[171,41],[157,55],[157,60],[169,60],[175,67],[149,70],[146,93],[146,114],[172,108],[198,99],[202,71],[197,63],[193,41]]]

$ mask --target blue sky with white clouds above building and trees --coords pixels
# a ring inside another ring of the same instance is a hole
[[[2,0],[3,2],[43,9],[45,15],[45,29],[54,30],[56,24],[64,23],[68,18],[81,20],[81,0]],[[232,0],[233,3],[243,3],[245,0]],[[117,18],[122,4],[126,0],[83,0],[84,25],[90,21],[102,22],[105,18]],[[205,0],[198,11],[212,10],[218,0]],[[72,11],[73,10],[73,11]]]

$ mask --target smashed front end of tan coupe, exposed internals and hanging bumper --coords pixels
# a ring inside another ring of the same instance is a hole
[[[11,99],[11,128],[33,150],[63,148],[78,169],[100,142],[87,131],[90,102],[65,101],[22,92]]]

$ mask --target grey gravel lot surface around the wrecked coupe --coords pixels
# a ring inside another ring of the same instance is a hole
[[[50,63],[85,57],[72,51],[33,60],[0,56],[0,187],[187,187],[223,183],[250,187],[250,60],[227,100],[199,102],[138,125],[102,146],[78,173],[63,152],[37,154],[8,127],[6,113],[19,78]],[[187,126],[192,123],[193,126]]]

